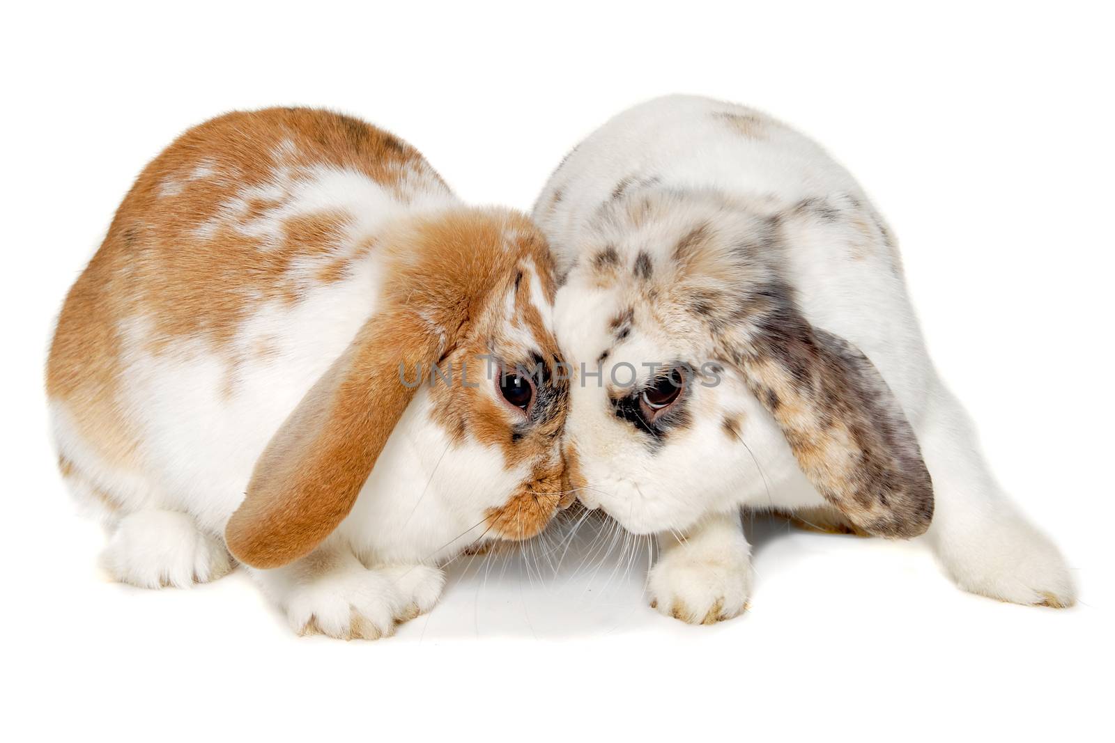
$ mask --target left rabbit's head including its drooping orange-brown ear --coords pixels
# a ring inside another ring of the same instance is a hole
[[[405,436],[447,439],[436,466],[459,477],[446,508],[485,538],[531,537],[568,500],[569,383],[554,373],[541,235],[517,214],[460,209],[406,221],[380,250],[377,311],[274,434],[229,521],[229,547],[250,565],[289,563],[337,528],[419,388]]]

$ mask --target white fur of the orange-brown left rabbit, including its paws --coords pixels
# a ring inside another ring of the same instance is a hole
[[[277,167],[269,184],[242,189],[225,203],[202,236],[227,221],[254,236],[278,237],[291,215],[341,211],[350,226],[328,256],[336,257],[394,219],[460,206],[439,182],[418,172],[403,174],[405,201],[353,170],[321,167],[307,175],[292,179]],[[190,175],[206,177],[235,174],[205,162]],[[163,193],[180,188],[164,184]],[[248,225],[241,221],[250,198],[283,195],[288,198],[272,212]],[[117,579],[149,588],[188,586],[229,570],[223,531],[256,459],[376,309],[381,270],[375,251],[334,283],[313,281],[317,270],[298,266],[304,276],[300,300],[263,305],[241,325],[231,351],[220,355],[202,339],[176,340],[169,350],[153,352],[148,320],[137,316],[120,325],[119,405],[139,442],[127,466],[103,461],[78,433],[66,404],[51,401],[59,453],[74,465],[69,485],[114,529],[103,564]],[[537,285],[533,273],[531,282]],[[522,340],[533,348],[530,338]],[[494,384],[477,392],[496,394]],[[295,630],[387,635],[396,620],[430,608],[444,579],[436,566],[483,537],[486,510],[502,506],[526,477],[526,467],[506,467],[498,449],[466,443],[450,450],[430,419],[423,387],[352,511],[327,541],[290,566],[250,571]]]

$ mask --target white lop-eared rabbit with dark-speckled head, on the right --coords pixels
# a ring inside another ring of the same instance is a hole
[[[659,98],[581,141],[533,215],[575,370],[570,480],[658,535],[658,612],[745,609],[741,508],[925,535],[966,590],[1073,604],[1061,555],[933,370],[894,234],[818,145],[750,108]]]

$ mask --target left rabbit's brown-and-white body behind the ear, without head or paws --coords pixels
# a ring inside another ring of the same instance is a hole
[[[219,530],[375,311],[385,226],[455,205],[416,149],[347,116],[274,108],[186,131],[59,316],[47,391],[74,489],[110,516],[157,499]]]

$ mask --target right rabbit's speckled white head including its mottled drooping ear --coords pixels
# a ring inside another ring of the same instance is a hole
[[[631,531],[762,502],[758,461],[796,461],[869,531],[932,512],[909,424],[870,362],[799,314],[779,217],[715,193],[644,188],[580,233],[558,334],[578,370],[568,423],[580,497]],[[788,450],[793,457],[782,456]]]

